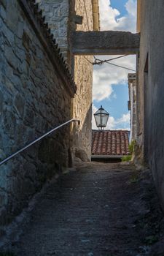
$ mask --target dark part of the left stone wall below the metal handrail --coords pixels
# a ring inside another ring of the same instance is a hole
[[[69,162],[68,148],[69,126],[1,165],[0,225],[9,224],[47,180],[65,170]]]

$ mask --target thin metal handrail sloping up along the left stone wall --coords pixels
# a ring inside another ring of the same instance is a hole
[[[25,151],[27,148],[29,148],[30,146],[34,145],[36,142],[38,142],[39,140],[42,140],[43,138],[45,138],[47,135],[50,135],[52,132],[55,132],[56,129],[59,129],[60,127],[63,127],[66,124],[71,123],[72,121],[77,121],[79,124],[79,120],[78,119],[71,119],[69,121],[66,121],[66,123],[60,124],[58,127],[55,127],[53,129],[51,129],[49,132],[45,133],[44,135],[42,135],[41,137],[37,138],[36,140],[32,141],[31,143],[29,143],[27,146],[24,146],[23,148],[21,148],[20,150],[18,150],[17,152],[15,152],[14,154],[11,154],[9,157],[5,158],[4,160],[2,160],[0,162],[0,165],[3,165],[5,162],[9,161],[9,159],[12,159],[13,157],[17,156],[17,154],[20,154],[21,152]]]

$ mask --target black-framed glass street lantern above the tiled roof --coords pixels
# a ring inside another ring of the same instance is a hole
[[[101,106],[101,108],[99,108],[94,113],[94,117],[95,117],[96,126],[101,130],[104,129],[104,127],[106,127],[106,124],[109,118],[109,113],[106,110],[104,110],[104,108]]]

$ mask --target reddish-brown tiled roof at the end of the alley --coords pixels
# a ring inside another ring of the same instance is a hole
[[[128,131],[93,130],[92,154],[120,156],[128,154]]]

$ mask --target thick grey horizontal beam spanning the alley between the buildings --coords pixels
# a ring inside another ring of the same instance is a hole
[[[139,51],[140,34],[126,31],[75,31],[71,37],[74,55],[124,55]]]

